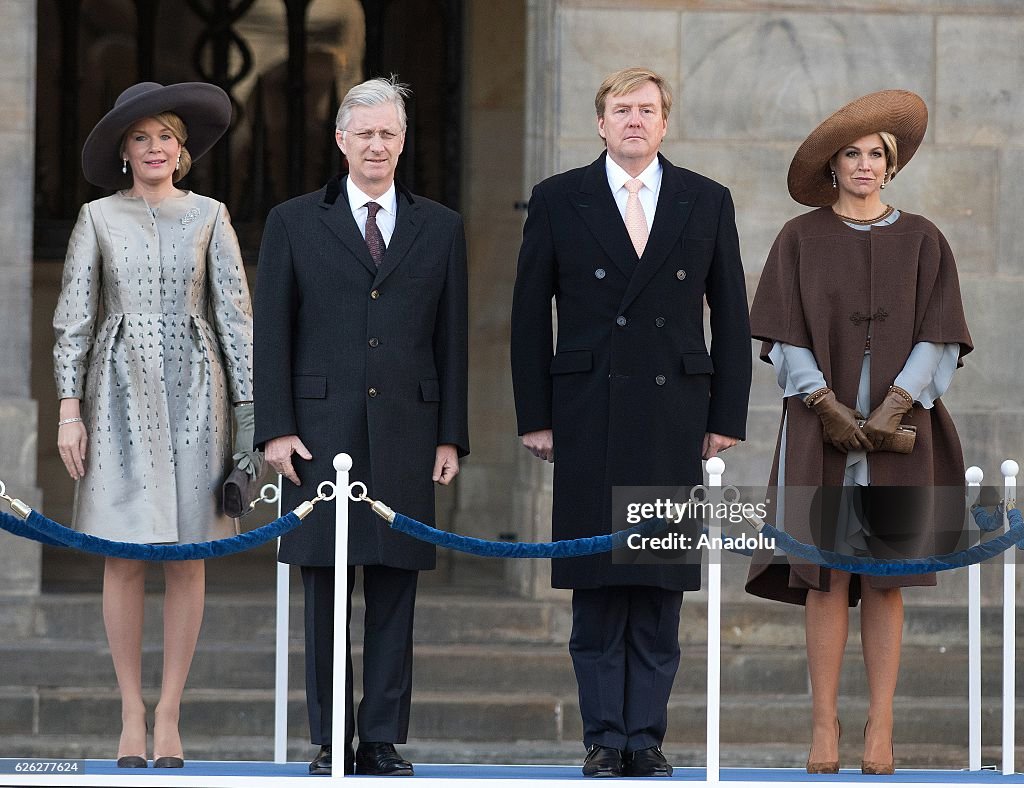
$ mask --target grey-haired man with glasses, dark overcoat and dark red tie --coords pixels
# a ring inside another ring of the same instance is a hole
[[[348,176],[267,217],[255,298],[255,440],[291,482],[285,509],[333,480],[334,455],[345,451],[371,496],[433,523],[433,484],[451,483],[469,451],[462,219],[395,183],[407,94],[394,79],[353,87],[336,132]],[[332,761],[334,518],[333,507],[317,507],[279,554],[301,567],[305,589],[306,702],[321,745],[311,774],[330,774]],[[358,774],[413,774],[394,744],[409,730],[418,571],[434,560],[432,545],[391,531],[369,507],[352,508],[348,561],[362,566],[367,612],[354,753],[348,654],[347,773],[354,758]],[[353,577],[350,566],[349,599]]]

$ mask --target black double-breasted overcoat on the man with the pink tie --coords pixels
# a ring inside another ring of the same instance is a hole
[[[745,435],[751,334],[732,198],[664,157],[662,165],[640,260],[603,154],[540,183],[530,198],[512,377],[519,434],[554,430],[555,539],[608,533],[613,486],[699,483],[706,432]],[[685,590],[699,587],[700,574],[693,563],[631,566],[605,554],[555,560],[552,583]]]

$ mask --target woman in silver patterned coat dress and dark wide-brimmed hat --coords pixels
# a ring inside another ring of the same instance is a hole
[[[83,148],[86,179],[120,190],[82,207],[53,317],[57,445],[77,482],[77,530],[171,544],[237,532],[218,500],[232,453],[252,448],[249,290],[227,209],[175,186],[230,115],[227,95],[213,85],[140,83],[119,96]],[[203,619],[205,565],[163,566],[154,767],[174,768],[184,762],[178,716]],[[144,579],[144,562],[106,559],[119,767],[147,764]]]

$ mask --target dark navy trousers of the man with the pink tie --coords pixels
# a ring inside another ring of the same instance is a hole
[[[635,752],[660,746],[679,668],[683,593],[647,585],[572,592],[569,654],[583,742]]]

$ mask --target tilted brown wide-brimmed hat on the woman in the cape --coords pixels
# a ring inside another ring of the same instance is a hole
[[[909,90],[881,90],[837,110],[803,141],[786,179],[790,194],[798,203],[820,208],[836,202],[829,160],[845,145],[867,134],[888,131],[896,137],[897,167],[909,162],[928,128],[928,107]]]

